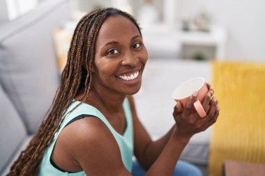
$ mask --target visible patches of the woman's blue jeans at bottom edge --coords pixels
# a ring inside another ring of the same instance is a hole
[[[143,176],[146,170],[140,166],[137,160],[133,161],[132,175]],[[201,170],[186,161],[178,161],[172,176],[202,176]]]

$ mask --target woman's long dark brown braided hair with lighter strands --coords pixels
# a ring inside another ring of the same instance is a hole
[[[59,130],[61,122],[66,117],[66,114],[63,114],[64,111],[68,109],[81,88],[85,90],[82,101],[89,97],[89,90],[92,85],[91,65],[95,55],[98,31],[107,17],[114,15],[122,15],[130,19],[141,34],[135,19],[128,13],[115,8],[94,10],[82,17],[73,33],[66,67],[63,69],[61,82],[56,90],[52,106],[47,111],[43,122],[26,150],[22,151],[20,157],[13,163],[8,176],[38,175],[43,154],[52,143],[54,134]]]

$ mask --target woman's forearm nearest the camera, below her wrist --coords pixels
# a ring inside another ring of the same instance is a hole
[[[165,147],[160,153],[159,157],[149,168],[146,176],[150,175],[172,175],[176,162],[179,160],[179,156],[183,151],[185,145],[187,145],[188,139],[183,138],[175,131],[170,135]]]

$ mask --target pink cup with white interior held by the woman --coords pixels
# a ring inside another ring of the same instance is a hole
[[[187,104],[188,100],[190,99],[190,95],[197,91],[197,100],[193,104],[197,113],[201,118],[204,118],[206,116],[206,112],[204,111],[204,108],[202,107],[202,101],[204,100],[204,97],[208,93],[208,87],[206,85],[205,79],[202,77],[196,77],[189,79],[188,81],[185,81],[181,83],[173,92],[172,97],[176,101],[181,102],[182,106],[185,106]]]

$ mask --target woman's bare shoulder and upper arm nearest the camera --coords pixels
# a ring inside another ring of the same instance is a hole
[[[112,132],[98,118],[75,122],[73,155],[86,175],[130,175]],[[79,123],[79,124],[77,124]]]

